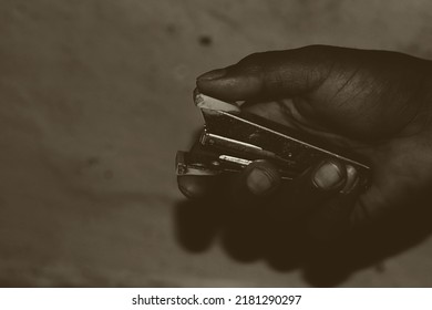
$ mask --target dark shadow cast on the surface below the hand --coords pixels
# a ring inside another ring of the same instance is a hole
[[[331,242],[312,239],[306,220],[282,221],[280,210],[246,208],[224,198],[179,202],[174,219],[176,238],[188,251],[203,252],[218,239],[237,261],[265,260],[279,272],[301,269],[309,285],[333,287],[428,237],[431,211],[422,210],[412,216],[397,214]]]

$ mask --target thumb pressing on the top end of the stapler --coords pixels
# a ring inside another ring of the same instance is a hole
[[[225,101],[275,100],[319,86],[331,68],[332,49],[306,46],[255,53],[197,78],[200,92]]]

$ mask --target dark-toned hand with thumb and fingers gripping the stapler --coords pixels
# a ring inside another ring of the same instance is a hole
[[[325,239],[395,214],[415,214],[431,203],[431,75],[428,60],[322,45],[256,53],[203,74],[200,92],[245,101],[241,108],[363,155],[372,180],[366,192],[359,189],[356,170],[331,159],[284,185],[261,162],[222,187],[217,180],[181,177],[179,188],[188,197],[205,199],[217,189],[241,205],[294,210],[290,218],[306,218],[311,234]]]

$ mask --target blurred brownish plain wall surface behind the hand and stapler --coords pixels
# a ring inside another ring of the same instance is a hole
[[[1,1],[0,286],[317,286],[237,259],[184,204],[195,78],[316,43],[432,58],[431,19],[428,0]],[[325,283],[430,287],[431,258],[423,238]]]

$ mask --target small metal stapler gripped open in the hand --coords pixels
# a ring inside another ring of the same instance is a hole
[[[353,166],[361,185],[368,186],[371,168],[356,154],[197,91],[194,101],[205,125],[189,152],[177,152],[179,176],[233,174],[256,159],[266,159],[278,167],[282,179],[291,180],[323,159],[337,158]]]

